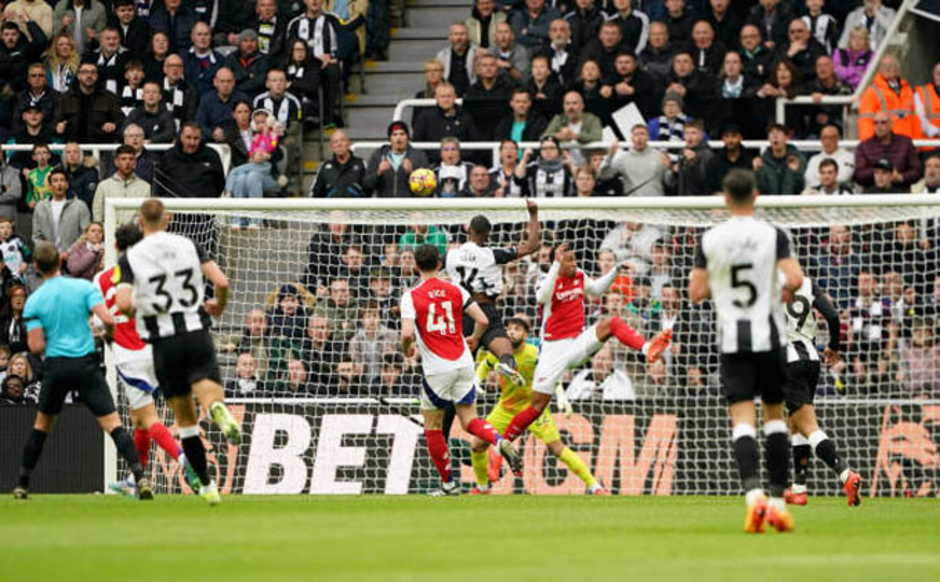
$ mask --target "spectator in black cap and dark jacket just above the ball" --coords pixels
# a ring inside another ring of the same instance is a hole
[[[408,124],[393,121],[388,126],[390,144],[372,153],[366,165],[366,188],[380,198],[407,198],[411,196],[408,177],[417,168],[427,168],[424,152],[411,147]]]

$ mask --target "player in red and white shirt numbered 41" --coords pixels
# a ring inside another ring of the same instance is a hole
[[[453,405],[464,430],[495,446],[514,471],[522,470],[522,459],[512,443],[476,414],[476,373],[471,351],[480,342],[488,325],[483,310],[466,289],[438,278],[441,256],[436,246],[415,249],[415,263],[421,280],[401,298],[402,351],[414,356],[415,344],[421,351],[424,386],[421,413],[428,452],[441,476],[437,495],[457,495],[459,488],[451,474],[450,451],[442,431],[444,410]],[[464,340],[463,313],[475,325]]]

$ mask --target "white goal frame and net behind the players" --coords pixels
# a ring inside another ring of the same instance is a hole
[[[106,234],[137,200],[109,200]],[[171,229],[205,245],[231,281],[214,330],[226,397],[245,442],[224,444],[207,420],[210,471],[229,493],[422,493],[439,485],[418,408],[420,363],[398,345],[398,302],[411,285],[416,243],[441,251],[466,240],[470,219],[494,225],[492,246],[518,244],[521,200],[166,200]],[[552,245],[568,242],[598,275],[625,263],[607,294],[587,301],[590,324],[619,315],[674,344],[647,366],[611,340],[564,387],[555,412],[562,441],[611,492],[737,494],[730,426],[718,383],[714,314],[686,299],[699,235],[724,218],[720,198],[540,200],[540,252],[504,267],[497,305],[525,315],[538,342],[536,282]],[[862,474],[865,495],[940,491],[940,198],[764,197],[761,217],[783,227],[807,275],[833,298],[841,328],[820,318],[820,350],[839,333],[843,361],[816,392],[821,427]],[[111,248],[111,245],[107,245]],[[111,257],[113,260],[113,257]],[[499,390],[489,378],[478,413]],[[122,398],[123,401],[123,398]],[[172,419],[167,411],[167,425]],[[204,414],[204,413],[203,413]],[[458,423],[459,424],[459,423]],[[455,424],[456,474],[474,483],[468,436]],[[175,429],[173,429],[175,432]],[[520,438],[525,474],[504,468],[499,493],[585,491],[531,434]],[[187,492],[161,451],[148,471],[159,489]],[[838,480],[811,461],[814,494]],[[108,478],[118,469],[111,457]]]

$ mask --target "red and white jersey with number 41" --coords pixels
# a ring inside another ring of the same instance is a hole
[[[401,318],[415,321],[425,375],[473,367],[463,339],[463,311],[472,302],[465,289],[436,277],[402,295]]]

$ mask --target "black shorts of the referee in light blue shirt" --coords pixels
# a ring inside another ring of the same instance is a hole
[[[114,412],[114,398],[104,379],[95,354],[80,358],[46,358],[42,388],[39,390],[39,410],[50,416],[62,412],[65,397],[71,391],[78,392],[79,401],[85,404],[95,417]]]

